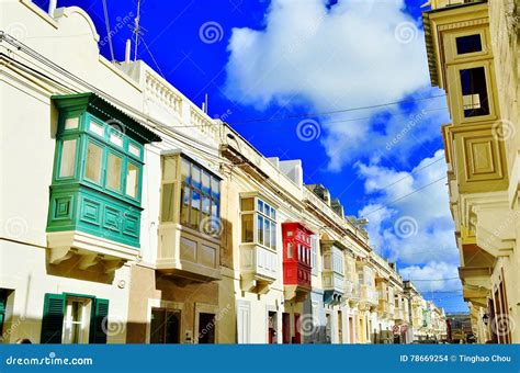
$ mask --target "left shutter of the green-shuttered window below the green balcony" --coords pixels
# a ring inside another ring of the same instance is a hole
[[[64,312],[65,296],[63,294],[45,294],[41,343],[61,343]]]

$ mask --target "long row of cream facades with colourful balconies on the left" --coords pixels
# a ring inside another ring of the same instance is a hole
[[[2,342],[412,341],[396,267],[299,160],[103,58],[83,10],[1,7]]]

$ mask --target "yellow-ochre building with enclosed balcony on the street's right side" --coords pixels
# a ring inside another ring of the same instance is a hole
[[[431,82],[452,118],[442,134],[464,299],[478,342],[519,342],[519,4],[428,4]]]

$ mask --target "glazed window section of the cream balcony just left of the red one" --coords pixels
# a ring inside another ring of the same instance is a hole
[[[276,213],[274,207],[259,197],[251,196],[240,201],[240,210],[242,242],[256,242],[275,249]]]

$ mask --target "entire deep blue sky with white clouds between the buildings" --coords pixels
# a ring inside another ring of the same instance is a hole
[[[136,1],[106,2],[122,60]],[[449,116],[429,84],[423,2],[143,0],[138,58],[193,102],[207,94],[208,114],[265,156],[302,159],[305,182],[369,218],[372,245],[405,279],[465,310],[440,136]],[[65,5],[88,11],[110,58],[102,1]]]

